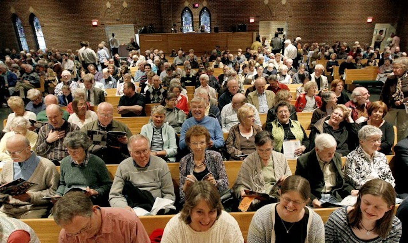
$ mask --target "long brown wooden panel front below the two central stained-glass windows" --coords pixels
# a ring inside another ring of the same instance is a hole
[[[253,42],[253,32],[222,32],[222,33],[162,33],[139,35],[142,53],[151,47],[171,53],[171,49],[182,47],[185,52],[194,49],[196,55],[210,51],[218,44],[223,50],[228,46],[231,52],[238,48],[245,50]]]

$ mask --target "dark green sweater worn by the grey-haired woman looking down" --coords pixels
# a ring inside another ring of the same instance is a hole
[[[109,194],[112,186],[105,162],[96,155],[90,155],[86,167],[73,166],[69,155],[61,160],[60,173],[60,186],[56,194],[61,196],[71,187],[89,186],[99,192],[97,198],[103,198]]]

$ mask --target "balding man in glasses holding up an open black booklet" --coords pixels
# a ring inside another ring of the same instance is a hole
[[[89,147],[89,151],[109,164],[118,164],[129,157],[126,144],[128,143],[128,138],[132,136],[132,132],[122,122],[113,120],[113,106],[108,102],[102,102],[98,105],[98,120],[85,124],[81,130],[84,133],[87,133],[88,130],[126,132],[124,137],[117,138],[121,144],[120,148],[109,146],[109,144],[106,146],[93,144]]]

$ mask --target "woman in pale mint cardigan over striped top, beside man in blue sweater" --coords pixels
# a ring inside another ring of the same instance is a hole
[[[151,111],[152,122],[143,125],[140,134],[150,141],[151,154],[162,157],[167,162],[174,162],[177,155],[177,143],[174,129],[167,123],[166,108],[155,106]]]

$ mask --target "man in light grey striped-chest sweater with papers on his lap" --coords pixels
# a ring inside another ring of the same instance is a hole
[[[149,140],[141,134],[133,135],[129,138],[128,149],[131,157],[119,164],[113,179],[109,193],[111,207],[140,206],[150,211],[157,197],[174,202],[169,167],[162,158],[150,154]],[[146,199],[141,200],[142,197]]]

